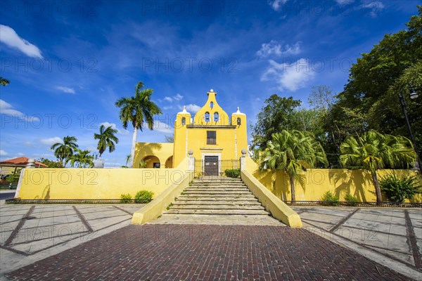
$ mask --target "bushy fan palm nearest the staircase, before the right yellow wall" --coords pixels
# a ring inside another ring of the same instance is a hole
[[[296,201],[295,178],[317,163],[328,164],[324,149],[314,136],[297,130],[274,133],[260,158],[261,169],[283,170],[288,174],[292,201]]]

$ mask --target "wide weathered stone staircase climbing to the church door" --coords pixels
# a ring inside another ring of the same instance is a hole
[[[165,214],[269,215],[240,178],[196,178]]]

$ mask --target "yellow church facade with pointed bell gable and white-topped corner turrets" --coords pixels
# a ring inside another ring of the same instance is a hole
[[[246,115],[236,112],[229,118],[217,103],[216,95],[214,91],[207,93],[207,102],[196,112],[193,123],[188,112],[177,114],[174,122],[174,164],[179,164],[187,156],[188,150],[193,151],[195,159],[203,159],[209,155],[224,160],[238,159],[241,157],[241,150],[248,148]],[[210,122],[205,122],[206,112],[210,114]],[[218,122],[214,119],[215,112],[218,112]],[[182,118],[185,118],[184,124]],[[216,131],[215,145],[207,144],[207,131]]]

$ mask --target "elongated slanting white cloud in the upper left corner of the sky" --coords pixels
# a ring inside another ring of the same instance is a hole
[[[0,25],[0,41],[11,48],[17,48],[25,55],[32,58],[42,58],[41,51],[35,45],[30,44],[13,30],[13,28],[7,25]]]

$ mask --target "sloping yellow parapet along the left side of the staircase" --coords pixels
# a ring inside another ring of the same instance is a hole
[[[186,159],[181,162],[180,165],[187,164],[187,162],[185,162]],[[132,216],[132,224],[143,224],[161,216],[167,209],[167,206],[174,202],[175,198],[179,197],[181,192],[188,187],[189,183],[193,180],[193,177],[193,171],[186,171],[182,181],[170,185],[170,187],[164,190],[155,200],[146,204],[146,206],[139,209],[139,211],[136,211],[134,216]]]

